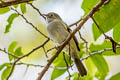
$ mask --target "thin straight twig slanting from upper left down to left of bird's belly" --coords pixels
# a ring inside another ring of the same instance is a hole
[[[35,27],[31,22],[29,22],[28,20],[27,20],[27,18],[25,18],[25,16],[23,15],[23,14],[21,14],[21,13],[19,13],[16,9],[14,9],[14,8],[12,8],[12,7],[10,7],[11,8],[11,10],[13,10],[13,11],[15,11],[18,15],[20,15],[25,21],[26,21],[26,23],[28,23],[29,25],[31,25],[37,32],[39,32],[41,35],[43,35],[45,38],[48,38],[48,36],[46,36],[44,33],[42,33],[37,27]]]

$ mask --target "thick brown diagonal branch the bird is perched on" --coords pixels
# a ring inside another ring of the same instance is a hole
[[[79,26],[73,30],[70,35],[67,37],[67,39],[63,42],[63,44],[59,47],[59,49],[57,50],[57,52],[51,57],[51,59],[48,61],[48,63],[46,64],[46,66],[44,67],[44,69],[42,70],[42,72],[39,74],[37,80],[41,80],[43,75],[45,74],[45,72],[48,70],[48,68],[50,67],[50,65],[52,64],[52,62],[55,60],[55,58],[59,55],[59,53],[62,51],[62,49],[66,46],[66,44],[71,40],[71,38],[75,35],[75,33],[81,29],[81,27],[83,26],[83,24],[91,17],[93,16],[93,14],[104,4],[106,0],[101,0],[100,2],[98,2],[96,4],[95,7],[93,7],[93,9],[80,21]]]

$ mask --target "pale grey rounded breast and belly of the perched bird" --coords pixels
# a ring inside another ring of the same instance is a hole
[[[49,37],[56,43],[62,43],[68,36],[64,26],[59,21],[53,21],[48,24],[47,32]]]

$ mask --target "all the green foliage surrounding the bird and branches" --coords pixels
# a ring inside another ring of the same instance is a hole
[[[49,0],[46,0],[49,1]],[[84,16],[88,14],[88,12],[93,8],[94,5],[96,5],[97,2],[100,0],[83,0],[82,3],[82,9],[84,10]],[[89,3],[89,4],[88,4]],[[99,37],[103,34],[102,32],[106,33],[112,30],[113,32],[113,40],[115,42],[120,42],[120,8],[119,8],[120,0],[110,0],[109,3],[103,5],[95,14],[94,19],[99,25],[100,29],[96,26],[95,23],[92,24],[92,32],[93,32],[93,38],[94,41],[98,40]],[[27,4],[22,3],[19,5],[13,6],[16,10],[20,8],[20,13],[24,15],[27,12]],[[0,8],[0,14],[4,15],[6,13],[10,12],[9,7]],[[8,24],[5,26],[5,33],[10,32],[10,29],[12,27],[12,24],[14,23],[14,20],[19,17],[20,15],[18,13],[12,13],[8,19]],[[32,23],[30,23],[32,24]],[[14,26],[15,27],[15,26]],[[35,28],[36,29],[36,28]],[[101,32],[102,31],[102,32]],[[116,53],[114,53],[112,50],[105,51],[107,48],[112,48],[112,43],[110,41],[104,40],[101,44],[94,44],[91,43],[89,45],[89,52],[86,53],[85,51],[85,45],[86,43],[79,43],[81,51],[78,53],[80,58],[83,58],[84,55],[92,55],[92,53],[97,51],[102,51],[101,54],[95,54],[90,56],[88,59],[85,59],[85,65],[88,71],[88,75],[84,77],[79,77],[78,73],[72,73],[71,77],[73,80],[93,80],[94,78],[97,78],[98,80],[106,80],[107,76],[109,75],[109,66],[107,64],[107,61],[105,60],[104,56],[117,56],[120,55],[120,48],[116,49]],[[13,41],[8,46],[8,52],[15,55],[15,56],[23,56],[22,47],[18,46],[17,41]],[[88,54],[89,53],[89,54]],[[8,55],[9,61],[13,62],[16,60],[15,57]],[[68,65],[72,64],[72,60],[70,60],[70,57],[65,54],[65,60]],[[65,69],[53,69],[51,74],[51,80],[55,80],[56,78],[64,75],[64,73],[67,72],[66,69],[66,62],[64,60],[63,52],[60,53],[60,55],[54,60],[53,66],[54,67],[60,67]],[[71,69],[68,67],[68,70]],[[11,70],[11,64],[10,63],[3,63],[0,65],[0,71],[2,71],[1,74],[1,80],[6,80],[7,76],[9,75],[9,72]],[[69,76],[66,76],[66,79],[68,80]],[[112,75],[109,80],[120,80],[120,72]]]

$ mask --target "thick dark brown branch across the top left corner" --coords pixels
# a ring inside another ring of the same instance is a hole
[[[0,8],[16,5],[20,3],[26,3],[30,1],[34,1],[34,0],[6,0],[6,1],[0,2]]]

